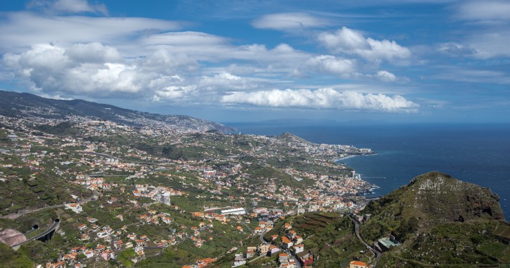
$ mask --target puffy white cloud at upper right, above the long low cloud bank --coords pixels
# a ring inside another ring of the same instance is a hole
[[[336,32],[321,32],[318,41],[336,54],[358,55],[369,61],[409,59],[411,50],[395,41],[365,39],[361,32],[343,27]]]

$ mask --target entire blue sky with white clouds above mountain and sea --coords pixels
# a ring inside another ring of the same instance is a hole
[[[0,90],[218,122],[510,123],[510,1],[0,5]]]

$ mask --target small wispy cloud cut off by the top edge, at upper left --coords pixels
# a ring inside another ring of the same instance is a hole
[[[28,3],[28,8],[39,8],[48,13],[99,13],[108,14],[104,4],[98,3],[91,5],[86,0],[32,0]]]

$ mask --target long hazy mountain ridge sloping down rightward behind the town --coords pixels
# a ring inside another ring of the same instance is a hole
[[[196,130],[198,132],[207,130],[217,130],[223,133],[236,132],[233,127],[191,116],[150,114],[90,101],[46,99],[34,94],[1,90],[0,115],[69,121],[108,120],[138,127],[147,125],[161,128],[172,127],[178,130]]]

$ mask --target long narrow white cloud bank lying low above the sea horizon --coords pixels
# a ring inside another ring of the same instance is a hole
[[[339,92],[330,88],[318,90],[261,90],[232,92],[222,97],[223,103],[251,104],[266,107],[329,108],[338,110],[377,110],[382,112],[416,112],[419,105],[404,97],[385,94]]]

